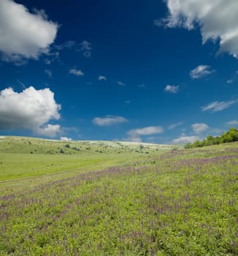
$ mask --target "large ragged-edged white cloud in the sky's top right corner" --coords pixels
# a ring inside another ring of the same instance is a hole
[[[220,52],[238,56],[238,4],[237,0],[166,0],[169,15],[157,26],[195,29],[199,24],[202,42],[219,40]],[[226,22],[224,22],[226,20]]]

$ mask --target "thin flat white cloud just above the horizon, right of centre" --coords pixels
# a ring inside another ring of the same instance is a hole
[[[143,127],[137,129],[131,129],[127,132],[128,138],[126,140],[140,142],[141,136],[145,135],[156,135],[164,132],[163,127]]]

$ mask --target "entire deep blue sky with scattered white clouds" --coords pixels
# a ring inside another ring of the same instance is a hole
[[[180,144],[238,127],[237,0],[1,0],[0,135]]]

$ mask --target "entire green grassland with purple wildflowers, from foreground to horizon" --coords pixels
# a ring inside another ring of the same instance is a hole
[[[0,138],[0,255],[238,255],[238,143]]]

